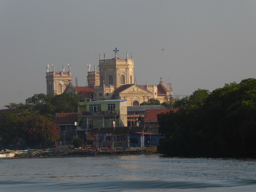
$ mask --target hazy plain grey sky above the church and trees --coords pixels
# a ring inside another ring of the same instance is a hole
[[[46,94],[46,66],[86,86],[87,64],[129,59],[174,95],[255,78],[255,0],[0,0],[0,109]],[[162,50],[164,49],[164,50]]]

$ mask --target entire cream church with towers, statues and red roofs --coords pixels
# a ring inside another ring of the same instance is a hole
[[[127,106],[139,106],[142,102],[148,102],[150,98],[159,100],[160,103],[170,103],[172,95],[172,84],[165,84],[160,78],[159,84],[153,85],[137,85],[134,76],[133,54],[131,58],[119,58],[117,56],[119,50],[113,50],[115,57],[107,59],[106,53],[104,58],[100,60],[98,65],[94,65],[94,71],[90,71],[88,65],[87,82],[88,86],[73,86],[71,80],[71,65],[68,64],[69,71],[49,72],[49,65],[46,73],[47,94],[55,93],[79,93],[81,100],[127,100]],[[97,68],[97,70],[96,70]],[[82,91],[81,91],[82,90]]]

